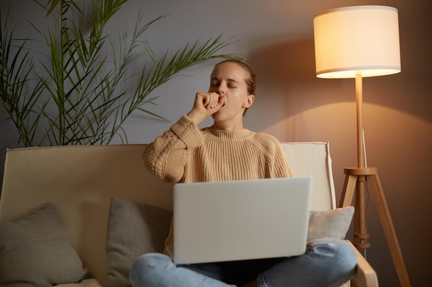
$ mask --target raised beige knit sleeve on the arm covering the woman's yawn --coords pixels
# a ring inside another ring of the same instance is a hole
[[[202,132],[187,116],[182,116],[168,131],[151,142],[142,158],[148,171],[166,182],[180,182],[191,149],[204,142]]]

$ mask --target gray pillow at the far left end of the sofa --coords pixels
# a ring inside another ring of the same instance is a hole
[[[19,220],[0,222],[0,286],[53,286],[88,275],[70,246],[54,204]]]

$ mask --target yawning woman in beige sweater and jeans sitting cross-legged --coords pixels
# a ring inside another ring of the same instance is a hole
[[[168,182],[291,177],[277,139],[243,127],[255,89],[255,74],[246,63],[226,60],[215,65],[208,92],[198,92],[189,113],[144,151],[147,169]],[[213,125],[200,130],[199,123],[208,116]],[[172,227],[166,247],[173,245]],[[355,253],[342,240],[314,240],[306,250],[291,258],[181,266],[167,255],[150,253],[137,259],[130,281],[135,287],[323,287],[340,286],[355,271]]]

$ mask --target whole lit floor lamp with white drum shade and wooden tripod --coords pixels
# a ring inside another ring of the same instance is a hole
[[[355,78],[357,106],[357,167],[346,167],[340,206],[351,205],[355,195],[354,244],[368,248],[366,182],[373,196],[397,276],[402,287],[411,286],[395,228],[376,167],[366,164],[362,127],[362,78],[400,72],[397,9],[387,6],[352,6],[328,10],[313,19],[315,65],[318,78]]]

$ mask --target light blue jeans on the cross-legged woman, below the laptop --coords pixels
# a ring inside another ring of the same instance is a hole
[[[228,287],[254,279],[259,287],[336,287],[355,273],[355,252],[343,240],[308,242],[296,257],[175,265],[160,253],[141,255],[130,269],[134,287]]]

